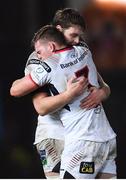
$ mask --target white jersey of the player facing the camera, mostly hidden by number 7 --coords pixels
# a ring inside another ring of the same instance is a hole
[[[29,74],[38,64],[40,64],[40,60],[38,60],[36,53],[33,52],[26,63],[25,75]],[[38,116],[34,144],[47,138],[64,140],[64,128],[59,120],[58,113]]]

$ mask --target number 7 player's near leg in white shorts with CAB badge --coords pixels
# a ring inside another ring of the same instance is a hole
[[[108,143],[77,141],[69,143],[61,158],[60,178],[94,179],[106,162]]]

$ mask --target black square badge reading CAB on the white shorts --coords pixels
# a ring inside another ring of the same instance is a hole
[[[94,162],[81,162],[79,172],[82,174],[93,174]]]

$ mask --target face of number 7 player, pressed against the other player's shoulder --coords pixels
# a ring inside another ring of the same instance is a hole
[[[35,51],[39,59],[46,59],[52,55],[52,51],[48,43],[44,43],[41,40],[38,40],[35,43]]]

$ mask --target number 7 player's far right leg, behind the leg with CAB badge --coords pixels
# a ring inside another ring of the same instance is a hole
[[[108,142],[109,145],[109,154],[106,162],[101,168],[100,172],[97,175],[97,179],[116,179],[116,139],[112,139]]]

